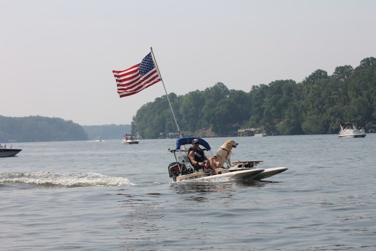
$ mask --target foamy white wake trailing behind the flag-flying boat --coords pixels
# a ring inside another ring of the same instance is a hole
[[[127,178],[111,177],[99,173],[25,172],[0,174],[3,184],[25,184],[43,187],[117,187],[133,186]]]

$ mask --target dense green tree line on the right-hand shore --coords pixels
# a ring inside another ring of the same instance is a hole
[[[337,66],[330,76],[317,69],[299,83],[276,80],[244,92],[219,82],[203,91],[170,93],[169,99],[180,129],[193,133],[210,127],[217,136],[229,136],[255,127],[280,135],[326,134],[337,133],[344,122],[368,129],[376,124],[376,58],[355,69]],[[144,138],[177,131],[166,96],[144,104],[131,126]]]

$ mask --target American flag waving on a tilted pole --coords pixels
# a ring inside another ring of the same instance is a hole
[[[136,94],[153,85],[161,78],[155,68],[151,53],[142,59],[141,63],[125,70],[113,70],[120,98]]]

